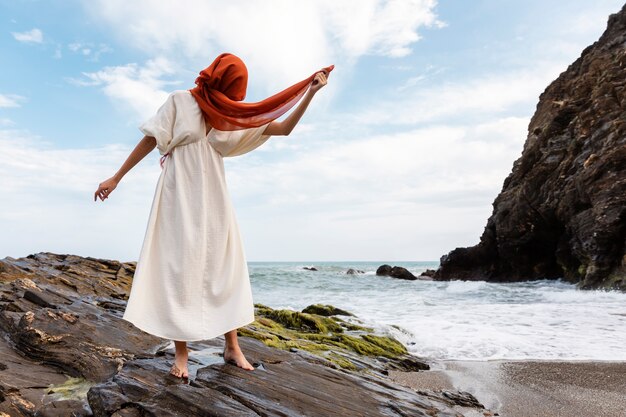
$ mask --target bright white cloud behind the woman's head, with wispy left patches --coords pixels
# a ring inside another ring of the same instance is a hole
[[[164,87],[172,84],[168,77],[187,80],[184,88],[191,88],[197,72],[224,50],[241,56],[249,68],[247,101],[265,98],[331,63],[337,64],[333,84],[338,87],[362,55],[410,52],[420,28],[441,25],[433,11],[435,4],[433,0],[170,0],[153,7],[147,1],[89,2],[86,10],[110,25],[124,42],[158,58],[106,67],[71,81],[101,86],[139,118],[150,116],[163,102]],[[211,18],[215,10],[219,18]],[[94,55],[93,47],[81,42],[68,45],[86,56]],[[332,89],[316,101],[323,105],[339,90]]]

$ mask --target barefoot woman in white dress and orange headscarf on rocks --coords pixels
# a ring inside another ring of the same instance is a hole
[[[237,341],[237,328],[254,321],[254,303],[222,159],[289,135],[332,69],[243,103],[247,69],[235,55],[221,54],[200,72],[195,88],[169,95],[140,126],[145,136],[119,171],[99,184],[94,201],[107,199],[155,147],[163,155],[123,319],[174,341],[172,375],[188,378],[186,342],[220,334],[224,361],[255,369]],[[285,120],[275,121],[301,99]]]

